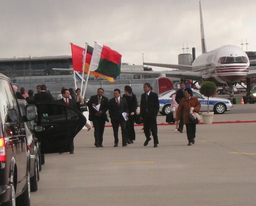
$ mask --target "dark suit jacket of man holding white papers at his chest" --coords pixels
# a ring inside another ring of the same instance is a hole
[[[98,95],[91,96],[90,100],[87,102],[87,106],[89,107],[90,121],[93,121],[95,114],[97,113],[97,111],[92,106],[93,104],[98,105]],[[108,117],[106,116],[106,111],[108,111],[108,109],[109,109],[109,99],[106,98],[105,96],[102,96],[99,111],[102,111],[101,117],[105,121],[109,121]]]

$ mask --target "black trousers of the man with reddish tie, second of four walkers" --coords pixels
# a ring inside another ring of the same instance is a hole
[[[119,125],[121,126],[121,131],[122,131],[122,143],[126,144],[127,143],[126,121],[123,121],[121,118],[120,119],[111,119],[111,124],[113,127],[115,144],[118,144],[118,142],[119,142],[119,139],[118,139]]]

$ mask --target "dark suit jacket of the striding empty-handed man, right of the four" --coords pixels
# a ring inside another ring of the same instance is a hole
[[[146,93],[141,95],[140,100],[140,115],[145,117],[156,117],[159,112],[158,95],[155,92],[150,92],[146,101]]]

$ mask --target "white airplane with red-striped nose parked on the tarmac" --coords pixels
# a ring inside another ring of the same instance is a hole
[[[256,76],[256,70],[249,70],[249,58],[245,51],[238,46],[226,45],[215,50],[207,52],[201,1],[200,6],[200,21],[201,21],[201,43],[202,55],[198,56],[192,65],[177,65],[177,64],[159,64],[146,63],[144,65],[166,67],[178,69],[174,71],[143,71],[140,74],[162,74],[173,76],[182,79],[196,80],[196,81],[213,81],[217,85],[227,85],[230,91],[236,83],[244,78],[252,78]],[[180,71],[183,70],[183,71]],[[122,72],[128,73],[128,72]],[[135,73],[135,72],[131,72]],[[138,72],[139,73],[139,72]]]

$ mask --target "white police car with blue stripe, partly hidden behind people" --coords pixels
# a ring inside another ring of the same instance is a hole
[[[170,90],[159,96],[160,114],[166,115],[170,112],[170,104],[172,104],[172,97],[174,94],[175,90]],[[201,104],[200,112],[207,111],[207,97],[200,94],[199,90],[193,90],[193,96],[196,96]],[[224,114],[225,111],[231,110],[232,107],[229,99],[209,97],[209,110],[214,111],[215,114]]]

